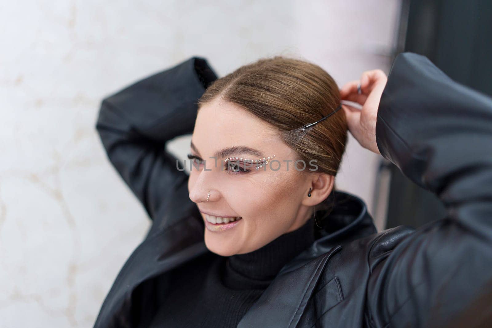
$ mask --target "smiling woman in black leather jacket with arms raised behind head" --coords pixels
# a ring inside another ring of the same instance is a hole
[[[340,99],[362,111],[339,110]],[[376,233],[365,204],[335,190],[347,127],[448,216]],[[104,99],[97,130],[153,225],[95,327],[491,319],[492,101],[425,57],[400,54],[388,79],[368,71],[341,91],[301,60],[258,60],[217,80],[193,57]],[[165,142],[191,132],[188,179]]]

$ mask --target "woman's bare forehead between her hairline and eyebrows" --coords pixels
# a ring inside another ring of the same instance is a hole
[[[200,108],[192,140],[198,149],[207,151],[237,145],[274,151],[282,145],[272,126],[242,107],[221,99],[214,99]]]

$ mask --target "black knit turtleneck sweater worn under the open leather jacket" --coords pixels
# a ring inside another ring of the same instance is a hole
[[[151,328],[236,327],[278,271],[314,241],[314,219],[265,246],[229,257],[207,253],[158,283]]]

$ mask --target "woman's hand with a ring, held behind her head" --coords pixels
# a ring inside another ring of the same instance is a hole
[[[381,154],[376,144],[377,109],[386,81],[386,74],[380,69],[374,69],[362,73],[360,81],[349,82],[340,89],[341,99],[362,105],[362,110],[342,105],[350,133],[362,147],[376,154]]]

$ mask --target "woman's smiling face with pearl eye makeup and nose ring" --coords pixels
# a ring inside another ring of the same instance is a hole
[[[198,159],[190,170],[189,197],[200,209],[206,225],[205,244],[212,252],[230,256],[254,251],[309,218],[311,207],[303,204],[310,186],[307,175],[296,171],[292,149],[266,122],[235,104],[215,99],[198,111],[191,143],[191,155]],[[231,148],[236,149],[229,151]],[[267,159],[273,155],[274,161],[259,170],[243,164],[240,166],[250,172],[224,169],[225,158]],[[216,161],[212,156],[217,156]],[[186,165],[189,168],[190,161]],[[214,224],[212,216],[241,218]]]

